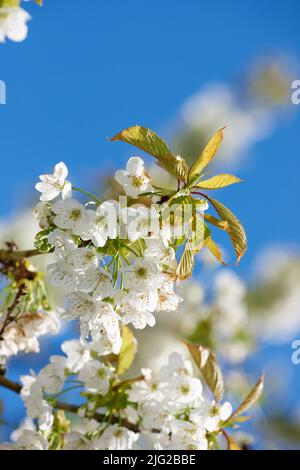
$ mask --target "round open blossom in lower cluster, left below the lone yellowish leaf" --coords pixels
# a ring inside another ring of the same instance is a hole
[[[91,359],[80,370],[78,378],[84,382],[86,392],[106,395],[112,375],[112,370],[103,362]]]

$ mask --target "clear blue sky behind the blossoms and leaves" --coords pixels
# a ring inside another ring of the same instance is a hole
[[[22,208],[38,175],[60,160],[77,186],[95,170],[122,167],[128,147],[106,137],[133,124],[163,131],[189,95],[235,80],[258,55],[300,59],[298,0],[44,3],[24,4],[33,17],[28,39],[0,47],[0,217]],[[248,232],[241,272],[269,243],[299,242],[293,111],[239,171],[246,183],[222,193]]]

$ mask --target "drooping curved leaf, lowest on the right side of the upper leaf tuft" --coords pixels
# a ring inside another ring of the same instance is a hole
[[[236,264],[238,264],[247,250],[247,236],[244,227],[231,210],[221,204],[221,202],[209,197],[207,199],[214,206],[221,219],[228,223],[229,228],[227,232],[237,256]]]

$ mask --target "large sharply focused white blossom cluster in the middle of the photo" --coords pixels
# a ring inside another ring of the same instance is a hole
[[[42,243],[55,258],[48,266],[50,283],[67,290],[64,318],[80,320],[82,337],[91,335],[95,340],[104,331],[117,353],[120,324],[138,329],[154,326],[155,312],[174,311],[181,302],[174,291],[173,242],[160,225],[160,208],[121,207],[114,200],[88,208],[70,197],[67,173],[60,163],[53,175],[42,175],[36,185],[42,192],[35,210],[43,229]],[[131,196],[149,190],[149,178],[138,157],[131,158],[126,171],[118,171],[116,178]],[[62,199],[50,204],[58,194]]]

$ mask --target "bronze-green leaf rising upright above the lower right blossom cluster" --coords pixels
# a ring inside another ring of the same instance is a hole
[[[215,354],[204,346],[185,342],[205,382],[217,401],[224,395],[224,379]]]

